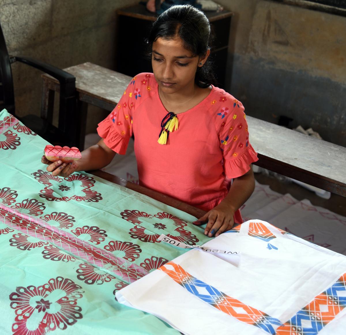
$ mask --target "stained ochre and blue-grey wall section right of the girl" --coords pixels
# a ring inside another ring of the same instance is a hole
[[[346,146],[346,17],[268,0],[218,2],[235,14],[226,87],[247,114],[273,123],[285,115]]]

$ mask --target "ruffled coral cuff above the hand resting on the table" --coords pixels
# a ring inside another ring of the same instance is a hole
[[[240,156],[231,160],[224,158],[225,174],[230,179],[238,178],[248,172],[250,170],[250,164],[256,161],[258,161],[257,153],[249,143],[246,151]]]

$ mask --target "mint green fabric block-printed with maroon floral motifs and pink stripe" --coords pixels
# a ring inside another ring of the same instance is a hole
[[[158,236],[203,244],[203,229],[88,173],[52,176],[46,144],[0,112],[0,334],[179,334],[115,293],[184,253]]]

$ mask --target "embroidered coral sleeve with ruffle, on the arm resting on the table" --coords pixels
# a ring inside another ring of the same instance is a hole
[[[249,143],[242,103],[231,95],[227,99],[222,96],[218,107],[216,126],[224,157],[225,174],[227,178],[237,178],[250,170],[250,164],[258,160],[257,153]]]

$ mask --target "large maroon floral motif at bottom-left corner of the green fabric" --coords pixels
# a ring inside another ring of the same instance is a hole
[[[56,328],[64,330],[75,324],[83,317],[82,308],[77,305],[82,293],[81,286],[62,277],[52,278],[39,287],[17,287],[16,292],[10,294],[10,307],[15,309],[16,315],[12,325],[13,335],[43,335]],[[38,315],[42,317],[41,322],[36,323],[33,329],[30,318],[33,316],[37,319]]]

